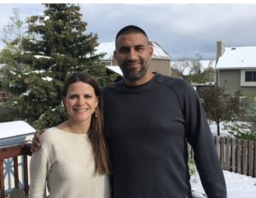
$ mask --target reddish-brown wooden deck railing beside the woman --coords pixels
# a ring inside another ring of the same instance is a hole
[[[14,160],[14,174],[15,174],[15,188],[20,189],[19,186],[19,172],[18,172],[18,156],[23,156],[23,174],[24,174],[24,191],[28,195],[28,170],[27,170],[27,156],[32,156],[30,144],[13,144],[0,147],[0,190],[1,198],[5,198],[4,188],[4,173],[3,161],[5,159],[13,158]]]

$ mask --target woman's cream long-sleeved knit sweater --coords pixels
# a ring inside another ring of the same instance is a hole
[[[29,198],[109,198],[108,176],[94,175],[94,167],[87,134],[49,128],[32,154]]]

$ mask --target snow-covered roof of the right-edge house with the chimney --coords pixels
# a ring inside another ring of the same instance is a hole
[[[256,46],[224,48],[216,69],[256,69]]]

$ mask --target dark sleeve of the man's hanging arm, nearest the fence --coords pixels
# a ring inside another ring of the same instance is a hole
[[[194,88],[184,83],[183,115],[189,144],[195,153],[195,165],[208,198],[226,198],[224,174],[207,122],[205,111]],[[186,90],[186,91],[184,91]]]

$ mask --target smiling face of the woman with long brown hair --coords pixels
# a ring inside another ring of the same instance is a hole
[[[68,87],[63,103],[67,109],[69,120],[90,123],[91,115],[98,105],[98,99],[90,84],[74,82]]]

